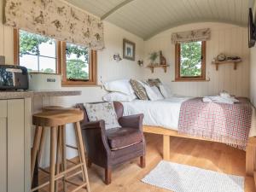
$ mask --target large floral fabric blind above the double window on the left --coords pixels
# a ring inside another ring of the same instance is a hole
[[[61,0],[5,0],[4,24],[90,49],[103,49],[103,24]]]

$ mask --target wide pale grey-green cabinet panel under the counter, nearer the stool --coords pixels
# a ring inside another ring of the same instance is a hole
[[[8,192],[24,192],[25,189],[25,121],[24,99],[8,100]]]

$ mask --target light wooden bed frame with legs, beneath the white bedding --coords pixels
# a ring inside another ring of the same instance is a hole
[[[143,125],[143,131],[163,136],[163,159],[170,159],[170,137],[183,137],[202,141],[216,142],[211,139],[202,137],[191,137],[188,135],[178,134],[177,131],[166,129],[160,126]],[[254,183],[256,183],[256,137],[249,137],[246,151],[246,173],[248,176],[254,176]]]

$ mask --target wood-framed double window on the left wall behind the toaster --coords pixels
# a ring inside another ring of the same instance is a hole
[[[15,64],[29,72],[61,73],[62,85],[96,85],[96,51],[22,30],[14,31]]]

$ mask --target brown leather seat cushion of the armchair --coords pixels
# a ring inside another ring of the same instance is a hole
[[[129,127],[109,129],[106,134],[111,150],[125,148],[143,141],[143,132]]]

